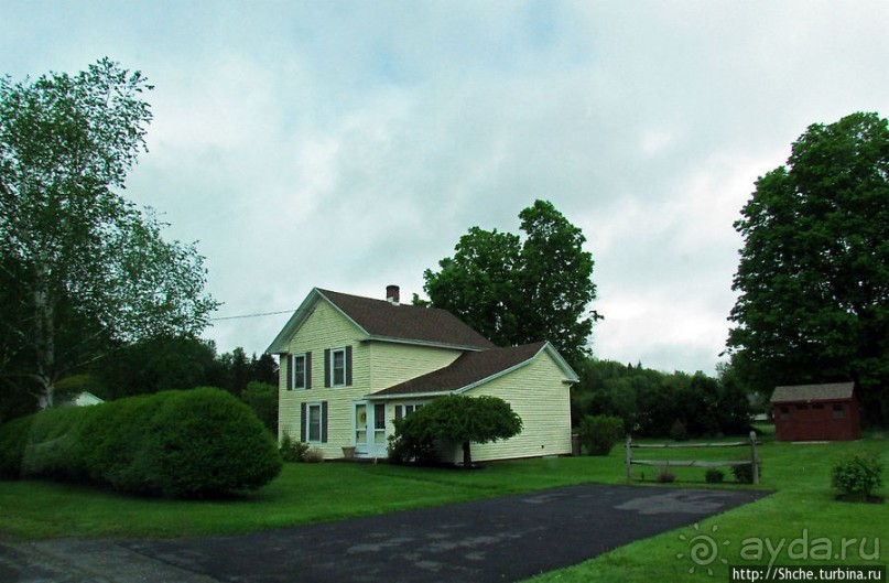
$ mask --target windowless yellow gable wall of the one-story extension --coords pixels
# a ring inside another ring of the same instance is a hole
[[[544,350],[528,365],[507,373],[465,395],[489,395],[507,401],[522,418],[522,432],[509,440],[473,444],[473,461],[507,460],[571,453],[570,385],[562,369]],[[454,462],[463,462],[463,450],[454,452]]]

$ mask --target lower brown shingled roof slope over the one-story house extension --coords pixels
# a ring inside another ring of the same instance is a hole
[[[545,342],[535,342],[522,346],[465,353],[444,368],[388,387],[375,392],[372,397],[452,392],[530,360],[545,345]]]

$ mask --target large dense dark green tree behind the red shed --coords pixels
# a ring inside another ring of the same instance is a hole
[[[889,421],[889,127],[877,114],[813,125],[756,183],[728,347],[756,388],[853,379]]]

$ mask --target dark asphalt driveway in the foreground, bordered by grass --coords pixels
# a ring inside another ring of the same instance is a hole
[[[253,535],[7,544],[0,581],[516,581],[767,494],[586,484]]]

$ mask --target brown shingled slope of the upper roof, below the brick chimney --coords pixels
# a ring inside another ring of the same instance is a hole
[[[393,305],[386,300],[318,290],[371,337],[419,341],[449,346],[495,348],[488,338],[457,316],[436,307]]]

